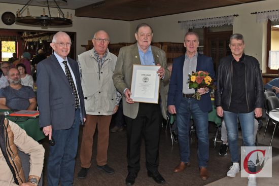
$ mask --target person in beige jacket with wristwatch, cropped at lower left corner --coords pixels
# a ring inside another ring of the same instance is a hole
[[[29,156],[30,171],[25,172],[29,175],[28,180],[25,180],[17,148]],[[41,144],[28,136],[16,123],[4,120],[3,115],[0,116],[0,185],[38,185],[44,154]]]

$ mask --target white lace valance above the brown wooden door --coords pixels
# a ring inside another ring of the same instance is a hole
[[[188,30],[189,28],[202,28],[202,27],[214,27],[214,26],[223,26],[225,24],[232,25],[234,16],[223,16],[223,17],[214,17],[206,19],[196,19],[189,21],[181,21],[179,24],[182,28]]]

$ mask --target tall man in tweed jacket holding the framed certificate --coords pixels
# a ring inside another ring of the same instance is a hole
[[[142,134],[145,137],[148,176],[152,177],[157,183],[165,183],[164,178],[158,171],[159,137],[162,121],[160,105],[149,101],[150,94],[147,95],[146,100],[141,100],[141,102],[135,102],[130,97],[132,95],[140,95],[139,97],[143,98],[144,93],[141,93],[141,91],[145,89],[143,88],[145,86],[144,83],[148,84],[146,86],[147,91],[156,92],[151,89],[151,82],[154,79],[154,77],[152,78],[153,73],[148,73],[152,71],[152,67],[155,67],[155,65],[161,66],[157,68],[156,76],[161,81],[158,87],[160,97],[162,99],[165,97],[163,82],[169,80],[170,73],[167,70],[165,52],[150,45],[152,36],[153,31],[150,25],[145,23],[138,25],[135,30],[137,43],[120,49],[113,75],[114,85],[123,96],[123,113],[127,123],[127,161],[129,173],[126,177],[126,185],[134,184],[137,173],[140,171]],[[141,67],[137,68],[137,72],[146,70],[146,73],[135,75],[133,68],[136,69],[138,65],[141,65]],[[131,89],[132,84],[136,83],[138,77],[142,76],[144,76],[141,79],[142,83],[138,83],[138,85],[142,86],[140,92],[130,91],[136,91],[136,88]],[[153,86],[156,87],[158,85],[156,78],[154,82]]]

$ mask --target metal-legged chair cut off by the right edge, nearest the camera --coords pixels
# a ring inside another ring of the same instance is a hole
[[[268,97],[267,98],[267,107],[269,109],[268,116],[271,119],[271,122],[275,125],[274,129],[273,129],[272,137],[270,140],[270,145],[269,145],[269,147],[270,147],[274,133],[275,133],[276,126],[279,122],[279,98],[277,98],[276,96]]]

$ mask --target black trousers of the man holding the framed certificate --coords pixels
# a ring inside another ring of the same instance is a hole
[[[141,141],[145,139],[146,168],[158,171],[159,137],[162,115],[159,104],[140,103],[135,119],[125,117],[127,123],[128,172],[140,171]]]

